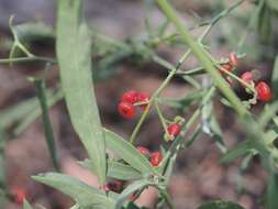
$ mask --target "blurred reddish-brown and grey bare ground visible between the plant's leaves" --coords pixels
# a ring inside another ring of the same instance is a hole
[[[188,25],[192,25],[194,16],[189,15],[189,11],[192,10],[203,18],[212,16],[211,10],[216,10],[215,4],[218,1],[205,1],[204,3],[201,0],[176,0],[175,2],[180,12],[187,12],[182,13],[182,16]],[[227,1],[229,3],[230,1]],[[240,11],[243,11],[245,7],[248,6],[245,4]],[[15,14],[15,22],[19,23],[38,20],[54,25],[55,1],[0,0],[0,33],[2,40],[10,37],[8,20],[11,14]],[[96,29],[118,40],[125,40],[131,35],[142,33],[146,10],[144,3],[138,0],[88,0],[86,2],[86,15]],[[149,15],[154,22],[162,18],[158,10],[152,10]],[[224,21],[233,22],[234,20],[227,19]],[[210,38],[225,36],[225,33],[222,25],[222,28],[212,32]],[[233,45],[233,41],[227,42],[227,44],[214,43],[212,52],[215,56],[225,56],[233,50],[229,44]],[[1,57],[7,57],[7,48],[0,48],[0,51]],[[38,43],[34,45],[34,51],[53,54],[53,44]],[[162,48],[160,53],[175,63],[180,56],[180,52],[182,52],[180,48]],[[241,70],[244,72],[255,66],[263,72],[264,78],[268,78],[273,66],[271,57],[262,57],[254,54],[246,58]],[[190,59],[184,67],[189,68],[193,64],[194,59]],[[123,62],[116,68],[119,70],[113,77],[97,85],[96,94],[103,125],[127,138],[136,120],[126,121],[118,116],[116,105],[121,94],[127,89],[152,94],[162,84],[166,74],[164,69],[152,63],[144,66],[133,66]],[[26,80],[26,77],[36,75],[41,69],[42,66],[40,65],[24,64],[12,67],[0,65],[0,109],[4,110],[19,101],[34,97],[33,85]],[[57,82],[57,68],[54,68],[49,73],[47,85]],[[179,97],[188,91],[190,91],[190,87],[187,84],[175,79],[163,95]],[[241,91],[237,91],[237,94],[242,96]],[[218,102],[215,106],[218,107],[218,119],[224,132],[224,141],[227,147],[233,147],[237,142],[244,140],[244,134],[233,113]],[[168,110],[165,110],[165,112],[169,116],[173,114]],[[185,117],[187,118],[189,114],[190,111],[185,113]],[[73,132],[64,101],[52,108],[51,120],[63,172],[77,176],[89,184],[96,184],[94,176],[76,163],[76,160],[85,158],[86,153]],[[137,141],[141,145],[155,151],[162,139],[163,129],[157,117],[152,114],[144,124]],[[7,179],[10,188],[25,188],[32,204],[43,205],[49,209],[64,209],[73,204],[67,197],[34,183],[30,178],[31,175],[53,170],[44,141],[41,119],[36,120],[21,135],[8,138],[4,151]],[[258,202],[266,191],[267,178],[266,172],[259,165],[259,158],[255,158],[248,169],[242,174],[238,168],[241,161],[236,161],[231,165],[221,165],[219,163],[220,157],[221,154],[215,144],[205,134],[202,134],[188,151],[179,154],[169,185],[169,191],[177,209],[194,209],[207,200],[220,198],[237,201],[246,209],[259,208]],[[140,199],[141,204],[151,208],[155,201],[156,195],[152,190],[147,195],[143,194]],[[19,207],[13,202],[9,202],[5,207],[5,209],[16,208]]]

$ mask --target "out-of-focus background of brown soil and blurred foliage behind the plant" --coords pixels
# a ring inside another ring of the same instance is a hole
[[[12,46],[13,37],[9,28],[9,19],[12,14],[14,14],[14,25],[36,23],[36,26],[26,26],[29,32],[24,28],[16,28],[27,48],[35,55],[55,57],[55,33],[53,32],[55,2],[54,0],[0,0],[1,58],[9,57]],[[174,0],[173,2],[185,20],[185,24],[192,28],[203,20],[210,20],[235,1]],[[167,75],[166,69],[143,56],[144,52],[140,51],[138,44],[148,38],[147,25],[155,31],[164,18],[152,0],[87,0],[85,4],[86,16],[92,33],[98,32],[116,41],[134,43],[136,46],[132,53],[122,53],[116,47],[111,48],[102,44],[97,37],[93,40],[93,50],[98,55],[92,57],[93,70],[97,75],[96,94],[102,123],[127,138],[140,116],[133,121],[119,117],[116,111],[119,98],[129,89],[152,94]],[[237,50],[240,40],[247,35],[242,50],[246,56],[242,59],[243,65],[237,73],[257,69],[260,72],[262,79],[268,80],[278,48],[276,38],[278,25],[275,24],[277,16],[275,12],[271,13],[271,29],[269,31],[264,29],[269,36],[267,41],[262,40],[262,31],[256,24],[247,28],[256,8],[255,1],[245,1],[213,28],[205,44],[210,46],[215,57],[226,57],[230,52]],[[199,34],[200,31],[201,29],[194,30],[192,33]],[[186,46],[178,42],[160,44],[156,47],[156,52],[173,64],[177,63],[185,50]],[[16,56],[21,54],[18,52]],[[198,63],[191,57],[182,65],[182,68],[190,69],[194,66],[198,66]],[[40,109],[34,85],[26,79],[29,76],[40,76],[43,68],[44,66],[36,62],[12,66],[0,65],[0,153],[4,160],[4,166],[0,167],[0,173],[4,174],[5,177],[3,176],[2,179],[5,178],[9,188],[24,188],[32,204],[43,205],[49,209],[65,209],[71,206],[70,199],[30,178],[37,173],[53,170],[42,119],[34,116],[34,112]],[[198,79],[201,82],[201,77]],[[46,80],[48,88],[58,88],[57,66],[47,72]],[[233,88],[241,98],[247,97],[236,86]],[[190,85],[185,80],[175,78],[163,92],[163,97],[180,98],[190,90]],[[31,110],[26,108],[33,105],[34,108]],[[231,148],[244,140],[244,130],[238,125],[230,109],[218,101],[214,107],[223,141],[227,148]],[[256,106],[252,111],[259,112],[260,109],[262,106]],[[186,107],[178,113],[187,118],[191,111],[192,107]],[[169,118],[177,114],[176,110],[169,108],[165,108],[164,112]],[[63,100],[57,102],[51,108],[49,113],[62,172],[77,176],[88,184],[96,184],[94,176],[76,163],[87,155],[71,129],[65,102]],[[151,114],[143,125],[137,142],[156,151],[162,141],[163,128],[157,117]],[[169,191],[178,209],[192,209],[207,200],[219,198],[238,201],[246,209],[259,208],[259,202],[264,201],[267,178],[259,158],[254,158],[247,168],[243,168],[241,160],[230,165],[222,165],[219,163],[220,157],[221,152],[205,133],[201,134],[189,150],[179,154],[169,185]],[[138,202],[152,208],[156,202],[156,194],[149,190],[142,195]],[[20,207],[9,201],[4,208]]]

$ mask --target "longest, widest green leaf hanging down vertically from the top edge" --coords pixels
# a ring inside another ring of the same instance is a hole
[[[57,57],[71,123],[104,184],[105,142],[93,94],[91,37],[81,11],[81,0],[58,0]]]

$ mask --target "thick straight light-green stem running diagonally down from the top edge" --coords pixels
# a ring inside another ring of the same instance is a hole
[[[189,34],[189,31],[185,28],[184,23],[177,18],[174,9],[169,6],[169,3],[166,0],[157,0],[157,2],[160,6],[162,10],[165,12],[165,14],[168,16],[168,19],[171,20],[173,23],[175,24],[176,29],[178,30],[178,32],[182,37],[182,41],[191,48],[192,53],[202,64],[204,69],[210,74],[215,86],[230,100],[230,102],[233,105],[233,108],[238,113],[238,116],[245,117],[248,113],[248,111],[242,105],[241,100],[236,97],[236,95],[231,90],[227,82],[219,75],[218,70],[215,69],[215,67],[213,66],[212,62],[207,56],[207,54],[203,52],[201,46],[198,44],[198,42],[194,41],[192,35]]]

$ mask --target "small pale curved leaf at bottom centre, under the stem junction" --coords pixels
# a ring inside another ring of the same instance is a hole
[[[146,180],[146,179],[136,180],[136,182],[132,183],[131,185],[129,185],[121,193],[121,195],[118,197],[115,208],[120,209],[122,207],[122,205],[124,204],[124,201],[129,198],[130,195],[132,195],[136,190],[143,189],[143,188],[145,188],[145,187],[147,187],[149,185],[151,185],[151,183],[148,180]]]

